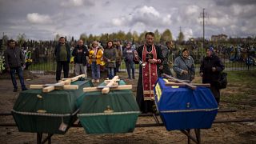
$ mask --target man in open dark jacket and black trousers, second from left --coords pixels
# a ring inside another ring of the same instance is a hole
[[[65,38],[61,37],[58,40],[58,45],[55,46],[54,55],[57,61],[56,81],[61,79],[62,67],[64,71],[64,78],[69,76],[70,63],[70,46],[65,42]]]

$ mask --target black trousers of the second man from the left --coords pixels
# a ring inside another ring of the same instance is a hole
[[[61,79],[62,67],[64,72],[64,78],[69,77],[69,62],[67,61],[58,61],[57,70],[56,70],[56,81]]]

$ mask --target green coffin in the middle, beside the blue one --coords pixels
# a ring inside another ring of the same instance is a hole
[[[78,98],[77,103],[81,105],[78,118],[86,134],[133,132],[140,114],[131,90],[110,90],[109,94],[89,92]]]

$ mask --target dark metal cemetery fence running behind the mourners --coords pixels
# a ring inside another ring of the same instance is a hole
[[[30,70],[32,74],[54,73],[56,70],[56,62],[54,60],[54,46],[56,43],[40,44],[27,46],[24,53],[26,55],[26,70]],[[170,54],[170,62],[180,55],[180,51],[186,46],[175,46]],[[24,49],[24,48],[23,48]],[[205,57],[206,52],[198,46],[189,48],[190,55],[194,58],[196,70],[199,70],[200,62]],[[255,46],[215,46],[216,54],[221,58],[226,66],[226,71],[230,70],[255,70],[256,54]],[[3,67],[4,61],[1,57],[0,67]],[[90,68],[89,68],[90,70]],[[104,69],[102,69],[104,70]],[[125,62],[122,61],[120,66],[121,71],[126,71]],[[135,72],[138,72],[138,65],[135,65]],[[70,63],[70,73],[74,73],[74,64]]]

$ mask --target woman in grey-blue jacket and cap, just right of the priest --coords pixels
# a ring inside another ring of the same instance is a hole
[[[182,55],[175,58],[173,69],[178,79],[189,82],[194,79],[194,59],[190,56],[189,50],[182,50]]]

